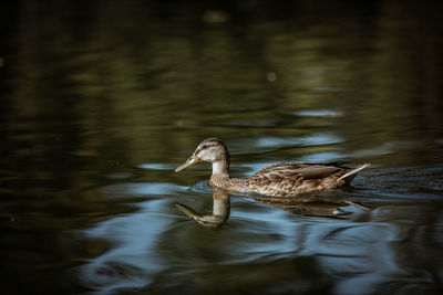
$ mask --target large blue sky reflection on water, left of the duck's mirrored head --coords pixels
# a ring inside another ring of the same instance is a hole
[[[156,243],[172,223],[164,212],[165,202],[142,202],[138,212],[106,220],[84,232],[84,238],[112,244],[112,250],[81,267],[81,280],[87,287],[103,294],[140,288],[164,268]]]

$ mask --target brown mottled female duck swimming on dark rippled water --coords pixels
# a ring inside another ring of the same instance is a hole
[[[175,169],[182,171],[195,164],[213,164],[209,185],[228,191],[289,197],[348,186],[369,164],[347,168],[337,164],[279,162],[258,170],[248,179],[229,176],[229,151],[217,138],[203,140],[187,161]]]

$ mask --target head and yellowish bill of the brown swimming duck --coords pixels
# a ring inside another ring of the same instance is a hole
[[[177,167],[175,171],[179,172],[202,161],[212,164],[226,162],[227,166],[229,166],[229,152],[226,145],[217,138],[207,138],[203,140],[186,162]]]

